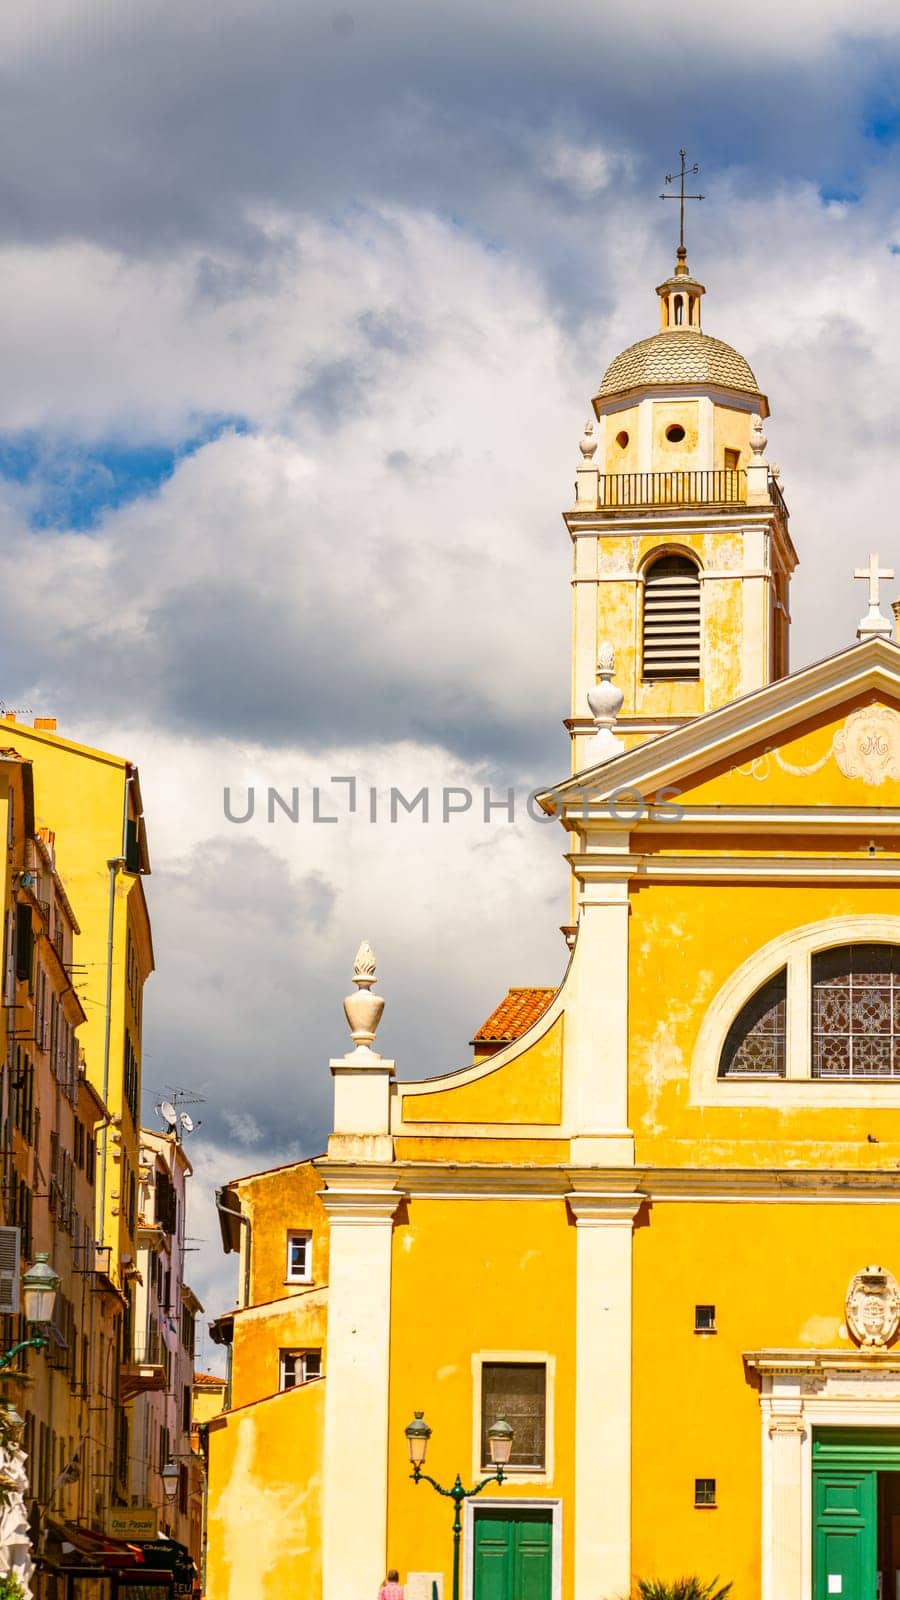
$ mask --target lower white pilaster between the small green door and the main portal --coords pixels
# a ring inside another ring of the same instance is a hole
[[[631,1232],[639,1195],[570,1194],[577,1227],[575,1592],[631,1592]]]

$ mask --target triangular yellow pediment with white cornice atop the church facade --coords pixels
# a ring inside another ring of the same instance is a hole
[[[900,646],[866,640],[693,718],[541,797],[597,814],[618,790],[697,806],[900,805]]]

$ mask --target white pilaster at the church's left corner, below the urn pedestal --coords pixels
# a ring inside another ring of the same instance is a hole
[[[322,1461],[322,1592],[359,1600],[388,1560],[391,1234],[397,1190],[365,1173],[336,1179],[330,1224],[328,1362]],[[376,1579],[375,1579],[376,1581]]]

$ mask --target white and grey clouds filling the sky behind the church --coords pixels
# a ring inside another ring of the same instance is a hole
[[[673,102],[689,144],[703,115],[705,325],[772,400],[794,659],[852,638],[849,573],[890,554],[900,368],[895,181],[854,42],[887,62],[900,27],[881,0],[524,0],[514,24],[388,0],[352,34],[282,0],[32,11],[2,22],[0,430],[50,453],[250,426],[90,534],[35,536],[30,491],[0,494],[3,696],[141,762],[146,1082],[207,1094],[191,1270],[215,1312],[235,1267],[211,1187],[320,1146],[362,934],[408,1077],[464,1061],[508,982],[562,970],[557,827],[314,826],[311,787],[562,774],[559,510],[609,358],[655,328]],[[844,158],[858,205],[791,176]],[[303,821],[227,824],[226,782],[298,784]]]

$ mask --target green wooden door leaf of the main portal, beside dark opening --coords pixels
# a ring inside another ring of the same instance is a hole
[[[817,1472],[814,1600],[876,1600],[876,1472]]]

